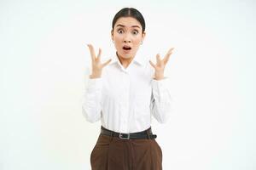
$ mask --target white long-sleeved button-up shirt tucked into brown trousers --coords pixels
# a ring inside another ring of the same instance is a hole
[[[135,56],[125,69],[117,55],[102,70],[102,77],[86,75],[82,113],[88,122],[119,133],[141,132],[151,126],[152,116],[167,122],[173,111],[169,78],[154,80],[148,59]]]

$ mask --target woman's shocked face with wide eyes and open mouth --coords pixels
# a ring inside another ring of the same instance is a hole
[[[123,59],[133,58],[143,42],[145,32],[140,22],[133,17],[120,17],[111,31],[114,46]]]

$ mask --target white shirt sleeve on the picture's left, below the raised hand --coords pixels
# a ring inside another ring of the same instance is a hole
[[[101,119],[102,111],[102,78],[91,79],[87,76],[82,99],[82,113],[88,122]]]

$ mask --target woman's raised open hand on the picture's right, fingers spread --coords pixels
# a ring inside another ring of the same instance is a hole
[[[168,60],[170,59],[170,56],[172,54],[172,50],[174,48],[170,48],[165,56],[164,59],[160,59],[160,54],[156,55],[156,64],[154,65],[154,63],[149,59],[149,63],[150,65],[152,65],[154,67],[154,79],[155,80],[160,80],[164,78],[164,71],[165,71],[165,67],[166,67],[166,63],[168,62]]]

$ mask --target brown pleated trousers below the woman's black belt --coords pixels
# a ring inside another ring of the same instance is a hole
[[[162,170],[155,139],[119,139],[100,134],[90,154],[92,170]]]

